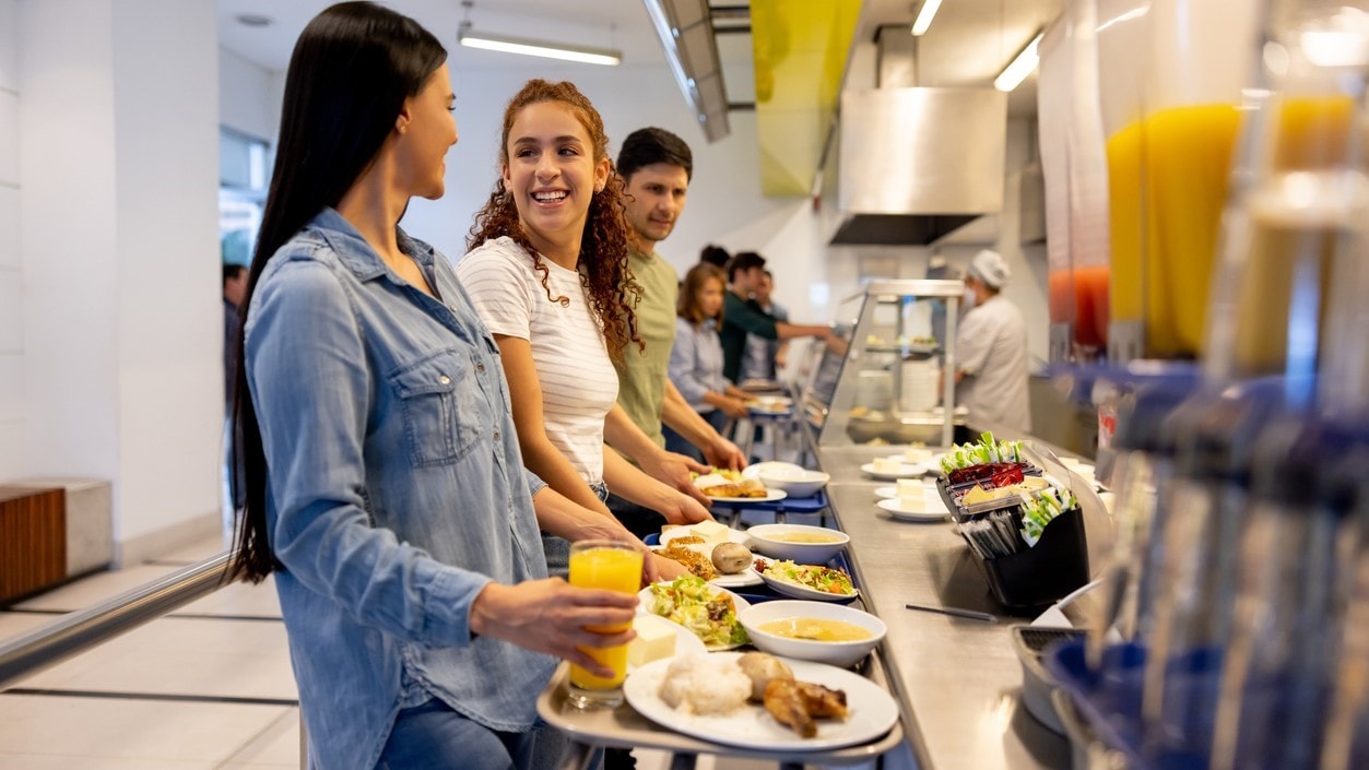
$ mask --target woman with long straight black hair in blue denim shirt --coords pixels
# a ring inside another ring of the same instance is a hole
[[[446,51],[342,3],[300,34],[244,331],[230,580],[274,577],[311,767],[527,767],[537,695],[637,596],[546,579],[538,518],[613,536],[519,461],[494,341],[398,227],[444,193]]]

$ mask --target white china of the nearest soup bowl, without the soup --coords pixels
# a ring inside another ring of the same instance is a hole
[[[845,621],[864,628],[871,633],[871,637],[861,639],[860,641],[817,641],[776,636],[760,629],[767,622],[784,618]],[[843,669],[854,666],[861,658],[869,655],[869,651],[884,639],[884,633],[888,630],[884,621],[867,611],[827,602],[764,602],[742,610],[737,614],[737,620],[741,621],[742,628],[746,629],[746,635],[752,637],[752,644],[758,650],[764,650],[772,655],[813,661]]]

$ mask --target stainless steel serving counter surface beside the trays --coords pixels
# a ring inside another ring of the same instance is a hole
[[[1021,669],[1008,625],[950,521],[895,521],[875,506],[878,483],[860,465],[899,447],[819,449],[838,525],[850,535],[867,605],[888,625],[884,661],[904,728],[923,770],[1068,769],[1069,744],[1043,728],[1017,692]],[[908,610],[953,606],[998,615],[988,624]]]

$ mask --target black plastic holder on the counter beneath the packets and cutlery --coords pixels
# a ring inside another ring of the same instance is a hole
[[[1025,551],[982,559],[968,543],[965,547],[994,599],[1012,614],[1036,614],[1088,583],[1088,542],[1079,507],[1050,520]]]

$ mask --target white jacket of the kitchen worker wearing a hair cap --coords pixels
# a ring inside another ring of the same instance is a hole
[[[1031,431],[1027,323],[1012,302],[995,294],[971,308],[960,320],[956,357],[965,373],[956,401],[969,409],[972,421]]]

